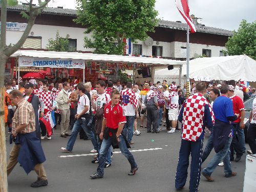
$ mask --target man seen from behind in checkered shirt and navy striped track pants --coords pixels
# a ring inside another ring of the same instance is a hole
[[[205,126],[214,126],[214,114],[210,104],[203,96],[206,90],[204,82],[197,83],[197,93],[184,101],[178,120],[182,122],[181,146],[175,177],[175,188],[184,187],[187,178],[187,167],[191,153],[189,191],[198,191],[201,175],[203,140]]]

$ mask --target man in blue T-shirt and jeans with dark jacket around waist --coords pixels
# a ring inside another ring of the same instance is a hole
[[[224,163],[225,177],[237,175],[231,169],[229,147],[232,142],[230,121],[236,120],[239,115],[234,115],[233,113],[233,105],[231,99],[228,98],[228,90],[228,85],[223,84],[220,88],[221,96],[214,101],[213,105],[215,114],[213,140],[214,149],[217,154],[211,159],[206,168],[202,170],[202,175],[210,182],[214,181],[210,176],[221,160]]]

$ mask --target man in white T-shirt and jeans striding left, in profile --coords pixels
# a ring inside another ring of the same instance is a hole
[[[75,144],[77,134],[79,133],[80,129],[82,128],[86,135],[91,139],[94,149],[97,150],[97,143],[94,138],[94,134],[90,127],[88,127],[88,122],[91,119],[90,115],[90,100],[86,94],[86,89],[84,88],[82,83],[77,85],[77,92],[79,94],[79,100],[77,103],[77,113],[75,118],[77,119],[74,123],[73,130],[71,132],[71,137],[69,138],[67,147],[61,147],[63,152],[72,152],[73,146]]]

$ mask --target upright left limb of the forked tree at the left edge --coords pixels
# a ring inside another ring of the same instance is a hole
[[[0,49],[6,46],[6,19],[7,19],[7,1],[1,1],[1,35]]]

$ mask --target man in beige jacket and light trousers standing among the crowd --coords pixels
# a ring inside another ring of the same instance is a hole
[[[59,104],[58,109],[61,116],[61,122],[60,122],[60,137],[67,137],[70,136],[68,133],[69,129],[69,118],[70,118],[70,109],[69,109],[69,83],[63,82],[63,89],[59,92],[56,101]]]

